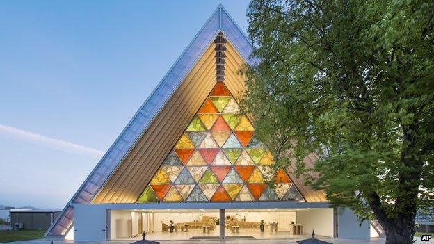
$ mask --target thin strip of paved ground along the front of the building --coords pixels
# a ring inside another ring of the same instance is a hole
[[[328,241],[333,244],[384,244],[385,238],[371,238],[370,240],[360,240],[360,239],[322,239],[323,241]],[[53,244],[130,244],[134,241],[54,241]],[[280,239],[280,240],[227,240],[227,241],[216,241],[216,240],[187,240],[187,241],[160,241],[161,244],[296,244],[294,239]],[[434,241],[421,241],[420,237],[417,238],[415,244],[428,244],[434,243]],[[51,241],[46,241],[45,239],[32,240],[32,241],[15,241],[10,244],[51,244]]]

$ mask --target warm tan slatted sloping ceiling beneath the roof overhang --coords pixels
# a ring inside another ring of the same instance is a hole
[[[175,145],[179,136],[187,127],[191,118],[198,111],[204,99],[216,84],[215,44],[204,51],[202,57],[188,73],[184,81],[179,84],[172,97],[168,99],[154,121],[138,139],[136,145],[124,157],[120,166],[111,175],[106,184],[92,200],[93,203],[127,203],[136,202],[140,193],[154,176],[163,159]],[[239,99],[241,92],[246,90],[245,78],[239,70],[245,61],[234,49],[232,44],[226,44],[225,54],[225,85],[232,92],[235,99]],[[252,117],[250,117],[252,119]],[[317,157],[307,156],[307,167],[313,167]],[[289,167],[288,173],[300,193],[308,202],[326,201],[323,191],[314,191],[291,174],[294,166]],[[314,177],[317,177],[312,173]]]

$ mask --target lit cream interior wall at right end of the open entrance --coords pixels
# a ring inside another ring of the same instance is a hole
[[[333,237],[333,209],[309,209],[297,211],[297,224],[303,225],[304,234]]]

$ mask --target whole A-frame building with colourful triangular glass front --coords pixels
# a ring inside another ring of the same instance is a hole
[[[168,209],[216,210],[220,223],[231,220],[225,209],[273,209],[294,213],[291,222],[308,228],[318,222],[309,216],[324,215],[319,225],[330,226],[319,234],[337,236],[338,218],[325,193],[305,186],[291,167],[272,170],[271,152],[255,138],[252,118],[239,108],[246,89],[239,70],[252,65],[251,52],[246,35],[218,6],[45,236],[65,238],[74,229],[76,240],[118,238],[110,219],[117,211],[140,215],[138,227],[131,224],[135,218],[129,219],[129,238],[164,231],[154,218]],[[311,154],[305,163],[312,167],[316,159]],[[275,187],[268,184],[271,179]],[[225,227],[220,224],[218,236],[225,237]]]

